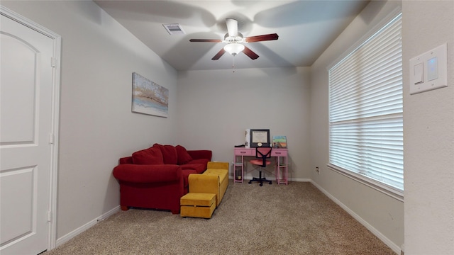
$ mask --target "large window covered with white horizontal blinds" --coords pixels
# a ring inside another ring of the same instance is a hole
[[[402,14],[329,72],[331,169],[403,198]]]

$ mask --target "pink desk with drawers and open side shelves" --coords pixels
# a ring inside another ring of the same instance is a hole
[[[255,157],[255,148],[235,148],[233,157],[233,182],[243,182],[245,163],[244,157]],[[277,184],[288,184],[288,150],[272,148],[271,157],[275,157],[275,176]]]

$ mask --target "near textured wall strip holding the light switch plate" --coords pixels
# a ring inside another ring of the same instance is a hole
[[[405,254],[454,254],[454,1],[402,10]],[[409,60],[445,42],[448,87],[410,95]]]

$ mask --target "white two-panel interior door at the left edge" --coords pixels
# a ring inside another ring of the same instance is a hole
[[[0,253],[38,254],[50,244],[55,42],[1,14]]]

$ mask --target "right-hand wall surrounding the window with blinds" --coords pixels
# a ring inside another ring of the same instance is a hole
[[[404,244],[404,203],[328,169],[328,71],[400,1],[372,1],[311,67],[310,178],[394,251]],[[406,111],[406,109],[404,110]],[[320,168],[317,174],[315,167]]]

